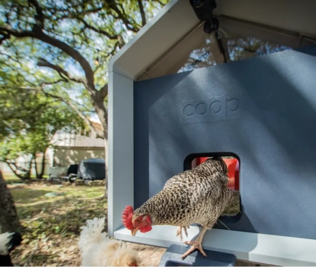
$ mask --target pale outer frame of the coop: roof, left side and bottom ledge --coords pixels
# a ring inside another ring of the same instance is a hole
[[[228,34],[248,35],[298,48],[315,43],[314,0],[216,0],[213,14]],[[134,81],[179,71],[190,53],[205,45],[206,33],[189,0],[172,0],[110,61],[108,84],[108,233],[115,238],[168,247],[176,228],[155,226],[133,237],[121,222],[134,203]],[[216,42],[213,61],[224,62]],[[284,218],[286,219],[286,218]],[[197,234],[191,231],[189,239]],[[279,266],[315,266],[316,240],[213,229],[203,245],[238,259]]]

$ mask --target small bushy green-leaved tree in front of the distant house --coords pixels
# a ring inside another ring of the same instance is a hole
[[[33,163],[36,177],[43,177],[45,152],[53,146],[53,137],[58,131],[76,134],[85,127],[82,118],[71,107],[36,89],[0,87],[3,97],[0,108],[4,111],[4,117],[1,116],[3,133],[0,134],[5,136],[0,142],[0,160],[21,179],[30,178]],[[37,153],[43,153],[40,167],[36,162]],[[18,164],[21,156],[25,160],[29,158],[25,166]]]

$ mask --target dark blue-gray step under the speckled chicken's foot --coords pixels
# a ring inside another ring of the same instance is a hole
[[[182,260],[181,255],[189,249],[186,245],[172,244],[163,253],[158,266],[236,266],[235,255],[213,250],[203,249],[206,257],[196,250]]]

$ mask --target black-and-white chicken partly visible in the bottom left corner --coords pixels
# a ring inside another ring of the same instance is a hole
[[[0,234],[0,266],[13,266],[9,253],[21,242],[22,236],[18,232]]]

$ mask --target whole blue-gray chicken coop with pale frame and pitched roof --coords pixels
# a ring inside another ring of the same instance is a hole
[[[219,155],[237,159],[239,210],[221,217],[225,226],[208,231],[203,247],[316,266],[315,11],[313,0],[171,0],[113,56],[110,236],[181,244],[175,226],[132,236],[122,210],[194,160]],[[186,240],[198,233],[190,227]]]

